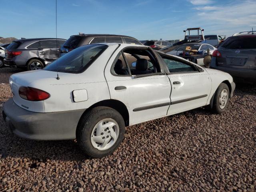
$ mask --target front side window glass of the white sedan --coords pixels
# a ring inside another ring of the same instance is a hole
[[[173,60],[173,59],[167,58],[167,57],[162,57],[162,58],[163,58],[164,62],[166,63],[167,68],[170,73],[197,71],[194,66],[186,64],[184,62]]]

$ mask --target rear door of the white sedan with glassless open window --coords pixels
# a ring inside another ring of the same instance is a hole
[[[147,47],[128,47],[128,49],[147,50],[156,58],[152,49]],[[131,63],[127,62],[124,53],[128,52],[122,52],[121,48],[116,50],[105,69],[111,99],[126,105],[130,125],[165,116],[170,105],[171,85],[162,66],[158,60],[150,60],[154,65],[158,65],[155,73],[132,75]],[[118,59],[125,61],[122,63],[122,69],[128,74],[117,74],[114,68]],[[144,58],[141,59],[144,60]]]

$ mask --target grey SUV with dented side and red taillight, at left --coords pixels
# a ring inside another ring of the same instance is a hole
[[[5,50],[4,65],[27,70],[42,69],[60,56],[66,39],[35,38],[14,40]]]

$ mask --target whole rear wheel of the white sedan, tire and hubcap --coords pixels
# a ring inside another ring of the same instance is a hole
[[[80,120],[76,140],[93,158],[112,154],[124,138],[125,124],[119,112],[109,107],[96,107]]]

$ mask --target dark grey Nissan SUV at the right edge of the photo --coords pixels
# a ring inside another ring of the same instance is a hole
[[[256,34],[241,32],[227,38],[213,52],[210,68],[229,73],[236,82],[256,82]]]

